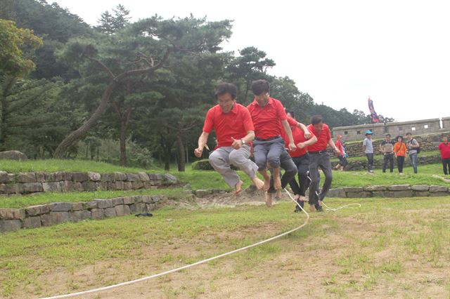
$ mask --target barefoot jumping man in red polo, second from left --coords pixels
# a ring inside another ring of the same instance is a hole
[[[284,140],[281,138],[282,128],[288,135],[289,150],[295,151],[297,148],[293,140],[293,133],[290,131],[286,112],[279,100],[270,98],[269,82],[266,80],[257,80],[252,82],[252,91],[255,94],[255,100],[247,106],[255,125],[255,142],[253,142],[253,155],[255,163],[258,166],[259,173],[264,178],[265,191],[270,187],[270,176],[267,168],[274,170],[274,188],[279,190],[284,188],[282,184],[287,185],[292,180],[295,173],[286,172],[283,178],[280,178],[280,156],[285,151]],[[280,126],[280,123],[282,127]],[[270,206],[267,202],[266,204]]]

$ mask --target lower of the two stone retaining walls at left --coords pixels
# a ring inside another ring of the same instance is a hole
[[[57,202],[27,208],[0,208],[0,232],[153,211],[160,207],[163,198],[158,195],[136,195],[76,203]]]

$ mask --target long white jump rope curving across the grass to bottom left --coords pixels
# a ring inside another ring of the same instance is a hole
[[[290,195],[288,190],[285,190],[285,192],[288,193],[290,199],[292,199],[295,202],[295,204],[297,204],[297,206],[300,206],[300,204],[298,204],[297,201],[295,201],[295,199],[293,199],[293,197]],[[302,206],[300,206],[300,208],[302,208]],[[255,244],[252,244],[252,245],[249,245],[249,246],[245,246],[245,247],[242,247],[242,248],[238,248],[236,250],[229,251],[227,253],[222,253],[221,255],[216,255],[216,256],[214,256],[212,258],[207,258],[206,260],[200,260],[197,263],[185,265],[183,267],[179,267],[179,268],[172,269],[172,270],[169,270],[169,271],[161,272],[161,273],[158,273],[158,274],[153,274],[153,275],[150,275],[148,277],[142,277],[140,279],[134,279],[134,280],[131,280],[131,281],[122,282],[121,284],[113,284],[112,286],[104,286],[103,288],[94,288],[94,289],[91,289],[91,290],[88,290],[88,291],[82,291],[82,292],[78,292],[78,293],[69,293],[69,294],[65,294],[65,295],[56,295],[56,296],[53,296],[53,297],[46,297],[46,298],[43,298],[43,299],[70,298],[70,297],[79,296],[79,295],[86,295],[86,294],[89,294],[89,293],[97,293],[97,292],[101,292],[101,291],[107,291],[107,290],[110,290],[111,288],[119,288],[121,286],[128,286],[130,284],[136,284],[137,282],[140,282],[140,281],[145,281],[145,280],[153,279],[153,278],[156,278],[156,277],[162,277],[162,276],[167,275],[167,274],[171,274],[171,273],[174,273],[174,272],[178,272],[178,271],[181,271],[181,270],[188,269],[190,267],[194,267],[196,265],[201,265],[201,264],[210,262],[211,260],[217,260],[218,258],[223,258],[226,255],[231,255],[233,253],[238,253],[240,251],[245,251],[245,250],[247,250],[249,248],[252,248],[252,247],[255,247],[255,246],[259,246],[259,245],[267,243],[269,241],[273,241],[275,239],[281,238],[281,237],[283,237],[283,236],[285,236],[287,234],[291,234],[291,233],[295,232],[296,230],[300,230],[300,228],[304,227],[309,222],[309,214],[307,213],[307,211],[304,211],[303,208],[302,208],[302,211],[307,215],[307,219],[304,221],[304,223],[302,225],[300,225],[299,227],[295,227],[295,229],[290,230],[288,232],[283,232],[283,234],[278,234],[278,235],[276,235],[274,237],[271,237],[269,239],[265,239],[265,240],[259,241],[259,242],[255,243]]]

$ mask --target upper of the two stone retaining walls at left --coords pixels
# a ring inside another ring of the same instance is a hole
[[[7,173],[0,171],[0,194],[152,189],[176,183],[174,175],[155,173]],[[1,199],[0,199],[1,200]]]

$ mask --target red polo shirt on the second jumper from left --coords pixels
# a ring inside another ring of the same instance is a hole
[[[281,135],[281,131],[284,131],[280,122],[286,119],[286,112],[279,100],[269,98],[264,107],[253,100],[247,108],[255,125],[255,137],[269,139]]]

